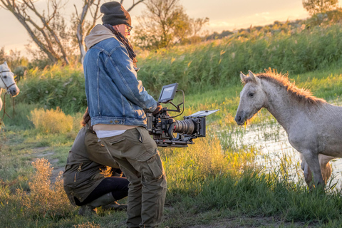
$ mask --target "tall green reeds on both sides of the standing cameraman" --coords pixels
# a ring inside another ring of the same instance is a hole
[[[138,59],[138,79],[157,99],[162,86],[175,82],[186,94],[192,94],[239,85],[240,71],[276,68],[296,74],[341,63],[340,24],[312,28],[285,24],[272,29],[252,28],[221,40],[145,53]],[[60,107],[66,113],[86,109],[82,66],[31,69],[19,88],[19,102],[48,109]]]

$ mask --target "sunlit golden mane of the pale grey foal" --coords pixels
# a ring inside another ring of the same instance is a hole
[[[314,95],[312,95],[311,91],[304,88],[298,88],[294,85],[294,83],[291,83],[288,78],[288,74],[281,74],[277,73],[275,70],[266,70],[265,73],[258,73],[258,78],[264,79],[266,81],[269,81],[271,83],[275,83],[276,85],[281,86],[282,88],[285,88],[288,93],[291,95],[292,98],[295,98],[300,103],[305,103],[308,105],[321,105],[323,103],[326,103],[326,100],[321,98],[316,98]],[[242,81],[242,83],[246,84],[248,82],[252,81],[251,77],[247,77]]]

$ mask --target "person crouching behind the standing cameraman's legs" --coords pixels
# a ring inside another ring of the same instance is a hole
[[[71,204],[81,206],[80,215],[95,212],[96,207],[126,209],[127,204],[118,204],[117,200],[127,197],[129,182],[90,129],[89,120],[87,108],[83,128],[69,151],[63,173],[64,190]]]

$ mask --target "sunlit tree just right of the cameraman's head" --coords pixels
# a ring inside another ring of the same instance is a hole
[[[190,19],[179,0],[147,0],[147,10],[138,16],[139,26],[134,38],[135,45],[142,48],[165,48],[181,43],[185,38],[197,35],[205,19]]]

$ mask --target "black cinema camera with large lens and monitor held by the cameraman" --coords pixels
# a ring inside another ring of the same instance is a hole
[[[159,96],[159,103],[170,103],[176,109],[171,110],[162,108],[160,113],[152,115],[147,113],[147,130],[153,135],[153,140],[158,147],[187,147],[188,144],[194,144],[194,138],[205,137],[205,117],[218,110],[204,110],[185,116],[184,120],[174,120],[173,118],[182,115],[184,112],[185,95],[183,90],[177,90],[178,83],[173,83],[162,87]],[[179,105],[172,103],[175,93],[182,91],[183,102]],[[182,105],[182,113],[180,110]],[[180,113],[179,115],[170,116],[168,112]],[[177,136],[174,137],[174,133]]]

